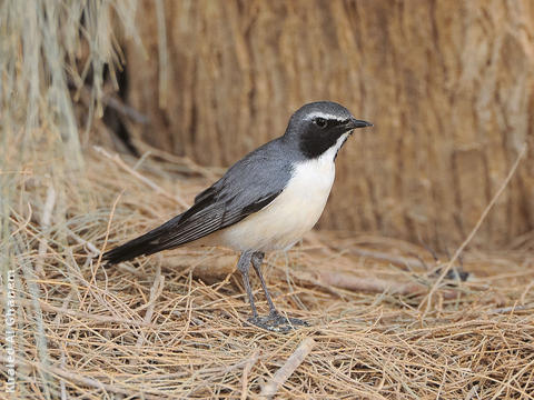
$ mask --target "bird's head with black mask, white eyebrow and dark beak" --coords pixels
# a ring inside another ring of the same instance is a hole
[[[337,153],[353,129],[365,127],[373,127],[373,123],[357,120],[342,104],[316,101],[295,111],[284,137],[296,141],[303,154],[313,159],[329,149]]]

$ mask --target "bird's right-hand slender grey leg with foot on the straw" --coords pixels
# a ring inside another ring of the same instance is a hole
[[[251,262],[254,270],[258,274],[261,287],[264,288],[265,298],[269,304],[269,314],[267,317],[255,317],[249,321],[257,327],[274,331],[274,332],[288,332],[295,327],[307,327],[308,323],[301,321],[297,318],[286,318],[276,311],[273,299],[270,298],[269,291],[267,290],[267,284],[265,283],[264,276],[261,273],[261,262],[264,261],[265,253],[261,251],[256,251],[253,253]]]

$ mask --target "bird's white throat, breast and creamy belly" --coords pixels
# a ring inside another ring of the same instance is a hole
[[[323,213],[336,174],[334,158],[347,136],[319,158],[298,163],[275,200],[212,239],[238,251],[285,250],[295,244]]]

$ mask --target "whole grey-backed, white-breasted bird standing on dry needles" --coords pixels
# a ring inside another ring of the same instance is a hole
[[[266,252],[288,250],[318,221],[335,178],[335,161],[354,129],[373,127],[342,104],[316,101],[289,118],[283,136],[233,164],[194,204],[149,232],[102,254],[116,264],[184,244],[221,246],[240,253],[237,261],[251,317],[248,322],[288,331],[306,321],[283,317],[261,273]],[[269,307],[259,316],[250,288],[250,266]]]

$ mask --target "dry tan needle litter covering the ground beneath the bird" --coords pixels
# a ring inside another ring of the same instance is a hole
[[[83,182],[63,188],[66,220],[51,218],[48,228],[41,221],[58,207],[50,200],[58,188],[39,184],[37,171],[18,176],[20,193],[32,199],[31,213],[13,210],[9,222],[19,243],[11,260],[26,398],[254,398],[308,338],[315,346],[278,387],[283,398],[533,398],[532,252],[467,252],[464,269],[474,278],[448,282],[425,314],[419,306],[436,280],[426,250],[316,232],[267,260],[278,308],[312,323],[275,334],[244,326],[249,308],[224,249],[184,248],[107,270],[92,259],[106,239],[112,246],[178,212],[171,196],[190,201],[207,178],[176,174],[185,163],[150,157],[137,166],[144,180],[95,149],[86,160]],[[78,199],[80,187],[92,201]],[[325,272],[423,289],[348,291],[325,283]],[[210,277],[222,278],[205,283]],[[260,296],[258,282],[255,289]],[[265,301],[259,307],[267,311]]]

